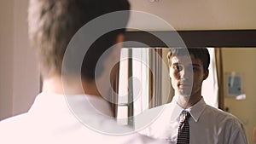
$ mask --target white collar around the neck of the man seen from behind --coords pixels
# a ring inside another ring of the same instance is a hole
[[[108,101],[96,95],[60,95],[54,93],[40,93],[30,112],[44,111],[53,112],[68,108],[73,112],[100,114],[113,117],[113,112]]]

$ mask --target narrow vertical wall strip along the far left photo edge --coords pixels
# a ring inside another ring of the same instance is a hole
[[[12,115],[14,1],[0,1],[0,119]]]

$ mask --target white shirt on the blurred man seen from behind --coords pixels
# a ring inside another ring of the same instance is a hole
[[[0,143],[162,143],[119,126],[111,116],[108,102],[94,95],[41,93],[29,112],[0,122]]]

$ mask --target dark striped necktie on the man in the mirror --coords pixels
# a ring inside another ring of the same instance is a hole
[[[187,111],[183,111],[180,115],[177,144],[189,144],[189,117],[190,113]]]

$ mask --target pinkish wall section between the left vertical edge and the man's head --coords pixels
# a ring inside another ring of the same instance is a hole
[[[28,41],[27,0],[15,0],[13,114],[26,112],[39,92],[39,72]]]

